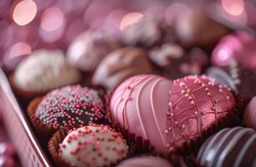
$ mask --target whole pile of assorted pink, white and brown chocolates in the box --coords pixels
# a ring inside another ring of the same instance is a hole
[[[92,14],[98,3],[81,4],[67,16],[84,14],[90,26],[68,26],[45,44],[62,28],[44,33],[53,28],[44,23],[47,13],[61,13],[58,6],[48,8],[38,44],[19,54],[25,56],[17,67],[4,66],[54,165],[256,165],[252,29],[182,3],[186,11],[165,8],[163,16],[156,14],[162,8],[151,8],[112,24],[109,15],[100,22]],[[76,31],[72,40],[66,40],[69,31]],[[3,152],[12,156],[9,149]],[[6,156],[6,164],[13,162]]]

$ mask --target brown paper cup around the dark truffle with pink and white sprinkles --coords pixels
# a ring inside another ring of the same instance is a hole
[[[42,97],[33,99],[30,104],[28,104],[28,117],[31,120],[34,128],[38,132],[40,137],[43,139],[49,139],[52,134],[54,134],[59,128],[53,127],[49,124],[43,124],[39,119],[35,117],[35,111],[38,108],[38,104],[41,102]]]

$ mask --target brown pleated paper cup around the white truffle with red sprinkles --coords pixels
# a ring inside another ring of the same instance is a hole
[[[59,144],[61,144],[64,140],[64,138],[67,136],[67,134],[69,134],[69,130],[68,129],[60,129],[59,131],[57,131],[53,137],[51,139],[49,139],[49,143],[48,143],[48,149],[49,149],[49,153],[52,155],[52,157],[54,158],[54,162],[58,165],[58,166],[66,166],[66,167],[71,167],[70,164],[68,162],[66,162],[64,159],[62,159],[59,156]],[[129,144],[128,144],[129,145]],[[128,150],[128,154],[126,156],[125,159],[131,158],[131,156],[133,155],[134,152],[134,146],[133,145],[129,145],[129,150]],[[122,159],[123,160],[123,159]],[[120,162],[120,161],[119,161]],[[117,163],[113,163],[110,164],[108,166],[105,167],[114,167]]]

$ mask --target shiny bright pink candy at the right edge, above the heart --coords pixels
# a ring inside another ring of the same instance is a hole
[[[233,60],[244,67],[256,69],[256,40],[241,32],[222,38],[212,52],[212,63],[227,66]]]

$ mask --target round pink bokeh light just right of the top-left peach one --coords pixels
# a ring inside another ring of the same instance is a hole
[[[64,13],[59,8],[48,8],[41,18],[41,28],[45,31],[53,32],[64,23]]]

